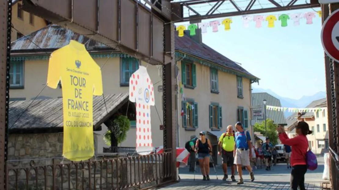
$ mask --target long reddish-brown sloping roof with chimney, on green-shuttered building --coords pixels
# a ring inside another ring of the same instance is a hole
[[[199,43],[195,41],[194,39],[192,39],[188,31],[184,32],[183,37],[179,37],[179,35],[176,32],[175,50],[179,50],[184,53],[194,55],[196,57],[202,58],[203,60],[218,64],[218,65],[233,69],[235,71],[239,71],[246,75],[252,76],[254,78],[257,78],[256,76],[252,75],[250,72],[246,71],[240,65],[230,60],[229,58],[225,57],[221,53],[217,52],[216,50],[212,49],[211,47],[207,46],[204,43]]]

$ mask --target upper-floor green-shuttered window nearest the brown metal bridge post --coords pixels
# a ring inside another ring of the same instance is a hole
[[[185,87],[197,87],[196,65],[189,61],[181,62],[182,84]]]

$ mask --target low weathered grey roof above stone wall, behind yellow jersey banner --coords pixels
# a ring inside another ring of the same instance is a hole
[[[106,94],[93,97],[93,125],[99,127],[105,120],[128,101],[126,94]],[[9,103],[8,128],[11,133],[63,128],[62,98],[11,101]],[[31,105],[29,105],[31,104]],[[27,106],[28,109],[26,110]],[[107,110],[106,110],[107,108]],[[26,111],[25,111],[26,110]],[[107,113],[108,112],[108,113]],[[23,113],[23,114],[22,114]],[[22,115],[21,115],[22,114]],[[21,117],[20,117],[21,115]],[[19,120],[18,120],[19,118]]]

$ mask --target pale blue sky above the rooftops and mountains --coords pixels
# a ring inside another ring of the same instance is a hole
[[[242,8],[246,7],[249,1],[235,0],[235,2]],[[260,0],[260,3],[261,5],[257,3],[252,9],[261,6],[272,7],[267,0]],[[288,2],[280,1],[280,4],[282,3]],[[210,3],[193,7],[196,7],[199,13],[206,13],[213,5],[214,3]],[[304,95],[325,91],[326,88],[324,51],[320,38],[321,18],[316,13],[318,10],[320,7],[257,14],[264,17],[274,14],[277,18],[281,14],[309,11],[316,14],[313,24],[306,24],[306,19],[301,19],[299,26],[293,26],[293,21],[289,20],[287,27],[281,27],[280,21],[277,20],[274,28],[268,28],[267,22],[263,22],[261,28],[255,28],[255,22],[251,22],[250,27],[245,28],[241,16],[232,17],[230,30],[224,31],[221,25],[218,32],[212,32],[212,27],[208,27],[207,33],[203,33],[202,40],[206,45],[240,63],[244,69],[259,77],[259,85],[254,84],[253,88],[271,89],[282,97],[299,99]],[[232,12],[235,9],[228,3],[221,5],[215,13],[226,11]],[[187,13],[187,10],[184,9],[184,13]],[[202,22],[220,19],[224,18],[206,19]],[[188,23],[176,23],[180,24]]]

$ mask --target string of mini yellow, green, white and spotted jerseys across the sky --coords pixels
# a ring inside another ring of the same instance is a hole
[[[293,13],[293,14],[271,14],[271,15],[243,15],[241,16],[241,22],[243,27],[255,27],[262,28],[264,26],[268,28],[274,28],[277,26],[299,26],[300,23],[313,24],[314,19],[321,19],[321,10],[308,11],[306,13]],[[237,20],[238,21],[238,20]],[[196,29],[200,28],[201,33],[207,33],[209,31],[218,32],[220,30],[229,31],[231,25],[236,22],[233,18],[223,18],[210,22],[201,22],[198,24],[180,24],[176,26],[179,37],[184,36],[184,30],[189,30],[190,35],[196,35]],[[222,25],[222,27],[220,27]]]

